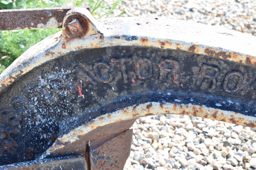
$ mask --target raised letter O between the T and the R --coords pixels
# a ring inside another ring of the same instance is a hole
[[[147,58],[138,58],[135,63],[135,73],[140,79],[150,78],[152,76],[152,62]]]

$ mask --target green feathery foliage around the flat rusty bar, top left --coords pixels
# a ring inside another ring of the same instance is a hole
[[[103,0],[0,0],[0,9],[46,8],[56,6],[90,6],[92,15],[101,18],[112,14],[120,0],[107,5]],[[68,1],[70,2],[70,1]],[[61,29],[0,31],[0,73],[32,45]]]

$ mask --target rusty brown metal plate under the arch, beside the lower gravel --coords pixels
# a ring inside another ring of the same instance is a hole
[[[91,141],[90,170],[124,169],[124,164],[130,155],[131,144],[132,129],[117,136]]]

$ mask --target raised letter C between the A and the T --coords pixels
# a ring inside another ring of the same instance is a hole
[[[98,62],[96,64],[94,64],[93,66],[93,70],[97,76],[97,78],[100,80],[100,82],[102,83],[109,83],[111,82],[113,79],[114,79],[114,76],[112,74],[112,72],[106,72],[108,74],[108,77],[106,78],[106,74],[104,75],[103,71],[100,71],[100,68],[99,66],[104,66],[105,68],[107,69],[110,69],[110,65],[108,63],[103,63],[103,62]]]

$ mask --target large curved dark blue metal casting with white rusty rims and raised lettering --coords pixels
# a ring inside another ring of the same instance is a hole
[[[62,32],[0,75],[0,164],[84,155],[88,169],[113,166],[115,155],[94,151],[129,144],[127,129],[147,115],[255,127],[255,57],[256,37],[236,31],[166,18],[97,21],[72,9]]]

